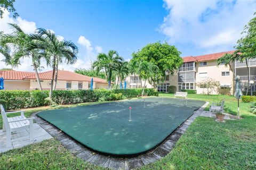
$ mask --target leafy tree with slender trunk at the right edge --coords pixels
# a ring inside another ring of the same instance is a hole
[[[256,12],[254,13],[256,15]],[[256,17],[251,19],[247,25],[245,25],[243,32],[244,35],[242,38],[237,40],[237,45],[235,46],[237,59],[241,62],[245,61],[247,71],[248,71],[248,82],[247,82],[247,91],[248,94],[250,86],[250,76],[249,76],[249,67],[248,60],[255,58],[256,56]]]

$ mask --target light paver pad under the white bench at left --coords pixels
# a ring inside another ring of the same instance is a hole
[[[39,126],[37,123],[34,123],[34,141],[29,140],[29,129],[13,132],[11,138],[11,147],[6,147],[6,133],[3,132],[3,130],[0,130],[0,153],[15,148],[21,148],[31,143],[41,142],[45,139],[51,139],[52,136],[43,128],[41,128],[41,126]]]

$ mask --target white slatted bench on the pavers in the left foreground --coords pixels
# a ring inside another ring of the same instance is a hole
[[[33,141],[33,119],[26,118],[24,116],[24,111],[15,111],[15,112],[5,112],[3,105],[0,105],[1,115],[3,117],[3,131],[6,131],[6,146],[11,146],[11,133],[14,131],[19,131],[29,128],[29,139]],[[16,117],[7,117],[7,114],[10,113],[21,113],[20,116]]]

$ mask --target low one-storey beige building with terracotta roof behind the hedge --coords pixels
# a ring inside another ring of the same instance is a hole
[[[6,70],[0,71],[4,78],[4,90],[36,90],[39,89],[34,72]],[[51,88],[52,71],[39,73],[43,90]],[[86,90],[91,88],[91,77],[70,71],[59,70],[56,84],[57,90]],[[106,80],[93,77],[93,89],[108,89]]]

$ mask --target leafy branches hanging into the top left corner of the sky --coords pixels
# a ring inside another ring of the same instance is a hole
[[[15,0],[1,0],[0,1],[0,18],[3,18],[4,15],[4,10],[8,11],[8,12],[12,12],[13,13],[13,18],[17,18],[17,16],[19,16],[19,14],[16,12],[15,8],[14,8],[14,2]]]

